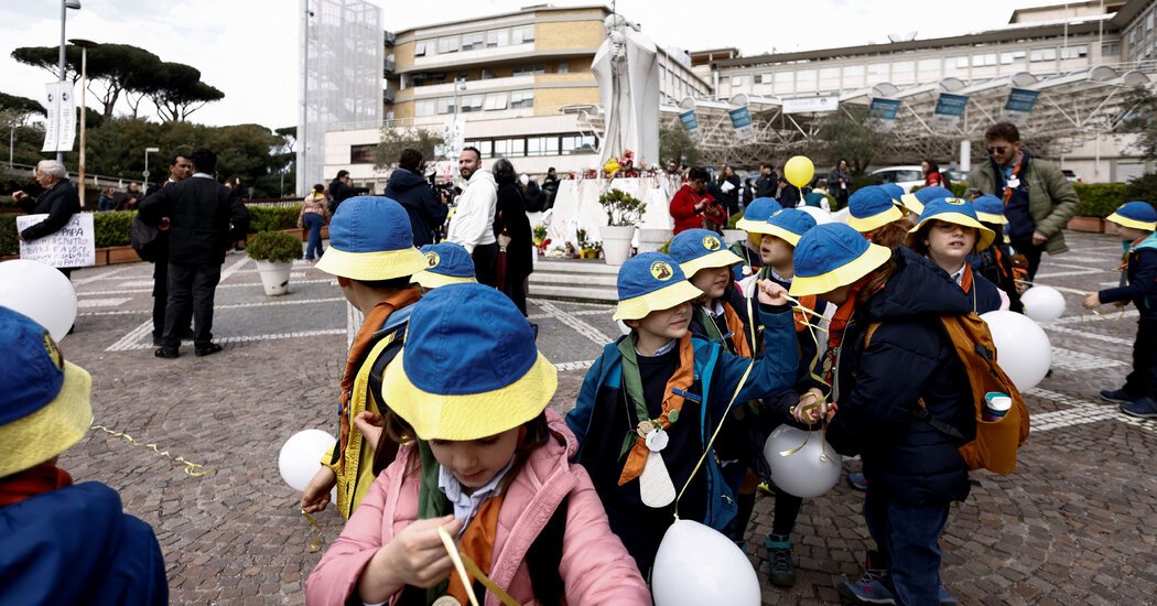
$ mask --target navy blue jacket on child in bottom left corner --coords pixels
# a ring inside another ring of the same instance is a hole
[[[153,529],[100,482],[0,508],[0,604],[141,606],[169,601]]]

